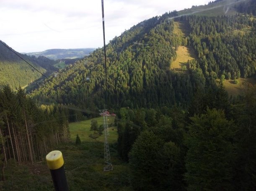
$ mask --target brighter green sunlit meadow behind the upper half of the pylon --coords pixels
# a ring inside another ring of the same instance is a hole
[[[98,117],[98,118],[93,118],[98,122],[98,126],[103,124],[103,117]],[[114,117],[109,116],[108,117],[109,122],[108,125],[110,126],[111,123],[114,124]],[[91,120],[86,120],[86,121],[80,121],[77,123],[70,123],[70,136],[71,140],[75,141],[76,135],[78,134],[81,141],[104,141],[104,135],[99,135],[98,132],[94,134],[94,131],[91,131]],[[109,136],[108,136],[108,141],[109,143],[115,143],[117,140],[117,128],[116,127],[109,127]],[[90,137],[93,136],[94,138]]]

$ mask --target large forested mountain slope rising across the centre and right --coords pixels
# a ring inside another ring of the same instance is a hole
[[[145,20],[107,45],[110,107],[186,107],[194,90],[216,87],[217,78],[235,80],[254,75],[255,19],[244,15],[193,15],[173,20],[177,15],[174,11]],[[173,33],[174,21],[188,28],[188,37]],[[190,45],[198,57],[186,64],[188,73],[169,69],[180,45]],[[52,78],[68,95],[47,81],[31,95],[41,101],[104,108],[103,58],[103,49],[97,49]]]

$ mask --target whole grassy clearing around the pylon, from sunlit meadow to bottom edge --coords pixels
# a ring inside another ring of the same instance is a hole
[[[103,118],[94,118],[100,125]],[[114,117],[110,117],[109,123],[114,123]],[[67,183],[70,191],[131,191],[129,167],[123,163],[116,151],[116,128],[110,128],[109,150],[113,171],[104,172],[104,144],[103,135],[95,140],[88,135],[91,120],[70,123],[71,141],[65,145],[59,145],[54,150],[62,151],[65,161]],[[81,138],[81,145],[75,146],[76,134]],[[24,191],[53,191],[51,174],[46,162],[34,165],[23,164],[15,167],[8,161],[5,168],[6,180],[0,181],[0,190],[24,190]]]

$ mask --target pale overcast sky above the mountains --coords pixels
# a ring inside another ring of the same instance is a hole
[[[142,20],[209,0],[105,0],[106,42]],[[103,46],[101,0],[0,0],[0,40],[18,52]]]

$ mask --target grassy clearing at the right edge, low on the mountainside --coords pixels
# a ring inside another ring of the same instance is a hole
[[[229,95],[237,96],[243,93],[243,89],[246,88],[246,83],[256,84],[256,78],[238,78],[238,83],[235,84],[233,80],[224,80],[223,85]]]

